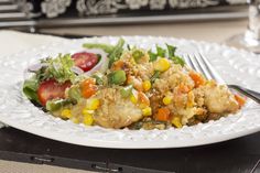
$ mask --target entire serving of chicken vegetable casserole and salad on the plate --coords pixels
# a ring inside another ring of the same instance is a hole
[[[55,117],[105,128],[182,128],[238,111],[245,98],[185,65],[176,47],[156,51],[86,43],[29,67],[24,95]]]

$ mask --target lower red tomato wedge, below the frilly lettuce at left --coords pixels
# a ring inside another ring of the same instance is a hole
[[[71,87],[71,82],[58,84],[55,79],[42,82],[37,88],[37,97],[40,102],[42,106],[45,106],[47,100],[65,98],[65,90]]]

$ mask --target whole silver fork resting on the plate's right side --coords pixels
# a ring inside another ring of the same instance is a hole
[[[212,64],[208,62],[206,57],[204,57],[201,53],[195,54],[193,56],[191,55],[185,55],[184,56],[186,64],[195,69],[198,73],[202,73],[206,79],[214,79],[218,84],[224,84],[227,85],[228,88],[235,89],[240,94],[243,94],[245,96],[251,98],[256,102],[260,104],[260,93],[247,89],[245,87],[241,87],[239,85],[229,85],[226,84],[225,80],[220,77],[220,75],[214,69]]]

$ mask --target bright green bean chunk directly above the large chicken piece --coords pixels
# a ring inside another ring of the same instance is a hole
[[[124,71],[113,71],[108,75],[108,83],[115,85],[122,85],[127,80]]]

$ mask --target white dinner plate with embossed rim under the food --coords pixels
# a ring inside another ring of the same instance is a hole
[[[230,84],[239,84],[260,91],[260,57],[218,44],[169,37],[124,36],[127,43],[141,47],[174,44],[177,53],[203,52],[220,75]],[[193,147],[225,141],[260,130],[260,108],[253,101],[236,115],[208,123],[169,130],[112,130],[86,128],[44,113],[21,93],[23,72],[35,60],[58,53],[83,50],[85,42],[112,43],[118,37],[94,37],[65,41],[29,50],[0,60],[0,121],[41,137],[86,147],[152,149]]]

